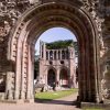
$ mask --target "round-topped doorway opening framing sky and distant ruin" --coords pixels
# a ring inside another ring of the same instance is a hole
[[[37,66],[34,65],[34,69],[37,69],[37,73],[34,70],[36,99],[40,92],[41,95],[50,91],[55,94],[66,91],[68,95],[78,92],[76,84],[78,45],[76,36],[69,30],[52,28],[45,31],[36,42],[35,52],[35,62],[38,63]]]

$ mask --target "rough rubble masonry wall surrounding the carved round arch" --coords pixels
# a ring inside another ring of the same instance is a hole
[[[14,31],[16,21],[20,16],[22,16],[22,13],[25,12],[29,8],[33,7],[36,3],[41,4],[46,2],[65,2],[78,7],[80,6],[81,9],[85,9],[89,13],[90,18],[92,18],[94,22],[96,23],[96,29],[94,30],[97,30],[97,50],[100,52],[100,55],[97,55],[97,62],[99,63],[99,66],[101,66],[101,74],[96,77],[96,80],[97,85],[100,86],[102,84],[102,87],[99,87],[101,91],[103,92],[106,90],[103,97],[109,92],[108,97],[105,98],[110,99],[110,82],[108,79],[109,77],[106,77],[110,73],[109,0],[0,0],[0,75],[7,72],[14,72],[15,68],[14,63],[8,59],[7,48],[9,46],[8,42],[12,31]],[[14,75],[12,76],[14,78]],[[100,78],[102,81],[101,84]],[[106,85],[105,88],[103,85]]]

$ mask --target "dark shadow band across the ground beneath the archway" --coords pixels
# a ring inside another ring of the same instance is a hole
[[[47,105],[66,105],[66,106],[75,106],[76,108],[79,108],[79,103],[75,101],[65,101],[65,100],[52,100],[52,99],[38,99],[35,98],[34,100],[36,103],[47,103]]]

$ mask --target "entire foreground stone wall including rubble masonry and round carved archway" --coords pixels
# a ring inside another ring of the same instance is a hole
[[[110,99],[109,0],[0,0],[0,100],[34,99],[34,46],[55,26],[78,41],[79,101]]]

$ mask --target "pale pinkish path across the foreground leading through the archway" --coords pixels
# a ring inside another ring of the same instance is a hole
[[[0,103],[0,110],[80,110],[74,105],[76,95],[43,103]]]

